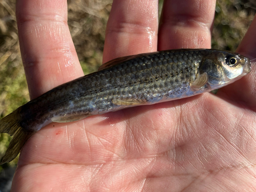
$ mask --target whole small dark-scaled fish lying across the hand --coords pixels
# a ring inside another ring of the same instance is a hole
[[[250,72],[250,59],[214,49],[179,49],[120,57],[42,94],[0,120],[13,136],[0,164],[51,122],[72,122],[124,108],[155,104],[219,89]]]

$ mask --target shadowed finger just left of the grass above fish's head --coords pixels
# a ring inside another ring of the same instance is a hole
[[[164,1],[158,50],[210,48],[215,0]]]

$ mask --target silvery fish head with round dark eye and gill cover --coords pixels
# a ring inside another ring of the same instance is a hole
[[[212,50],[205,55],[199,67],[200,74],[206,73],[212,89],[226,86],[240,79],[251,70],[250,59],[230,51]]]

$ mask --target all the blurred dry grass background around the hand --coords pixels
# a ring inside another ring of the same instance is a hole
[[[0,119],[29,101],[20,57],[16,0],[0,0]],[[68,24],[84,74],[102,64],[105,28],[113,0],[68,0]],[[159,15],[163,0],[159,0]],[[217,0],[212,48],[235,51],[256,11],[256,0]],[[0,157],[10,137],[0,134]],[[0,165],[0,192],[10,190],[18,157]]]

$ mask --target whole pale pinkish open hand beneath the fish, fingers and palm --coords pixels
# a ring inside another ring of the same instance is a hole
[[[160,28],[157,3],[114,1],[103,62],[210,48],[215,1],[166,1]],[[83,75],[66,0],[19,0],[16,11],[31,99]],[[237,50],[251,59],[255,31],[254,19]],[[23,147],[12,191],[255,191],[255,69],[217,95],[44,127]]]

